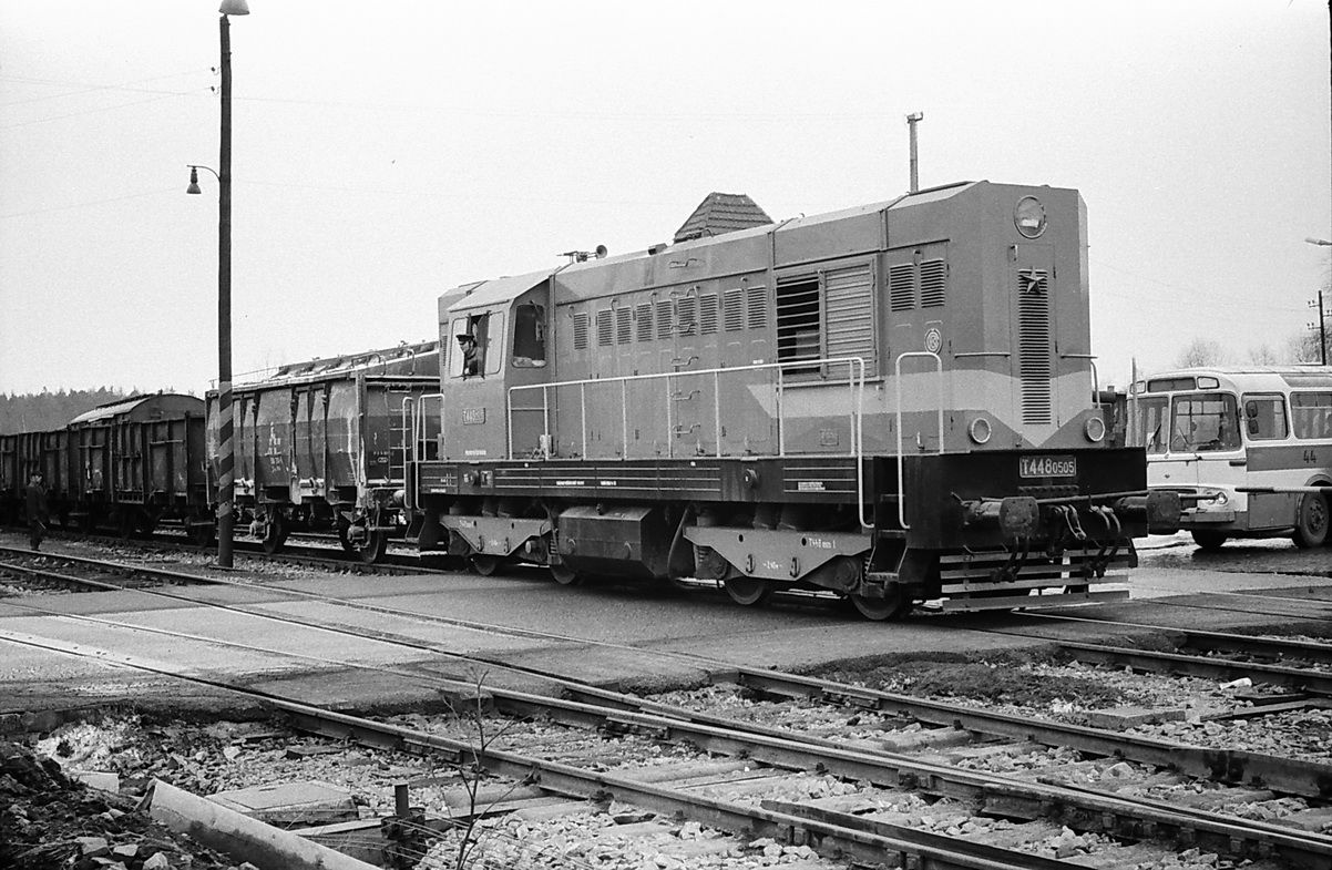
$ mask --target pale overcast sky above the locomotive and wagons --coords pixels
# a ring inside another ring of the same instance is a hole
[[[306,3],[232,19],[234,370],[464,281],[920,184],[1082,191],[1102,382],[1284,352],[1332,248],[1323,0]],[[0,3],[0,392],[217,373],[216,0]],[[1329,306],[1332,306],[1332,300]]]

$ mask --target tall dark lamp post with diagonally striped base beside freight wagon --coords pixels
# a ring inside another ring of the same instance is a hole
[[[221,144],[217,172],[190,165],[186,193],[200,193],[200,168],[217,177],[217,564],[232,566],[232,498],[236,472],[232,418],[232,15],[249,15],[245,0],[222,0],[221,12]]]

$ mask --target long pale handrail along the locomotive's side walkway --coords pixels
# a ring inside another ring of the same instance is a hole
[[[935,356],[935,354],[931,354],[931,356]],[[939,361],[938,356],[935,356],[935,361]],[[801,369],[806,369],[806,368],[811,368],[811,366],[821,366],[821,368],[826,369],[826,368],[834,366],[834,365],[844,365],[844,366],[847,366],[846,386],[851,392],[851,396],[852,396],[852,401],[850,402],[850,410],[847,412],[847,424],[848,424],[850,430],[851,430],[851,445],[850,445],[850,453],[848,453],[848,456],[852,457],[852,458],[855,458],[855,461],[856,461],[855,462],[855,466],[856,466],[856,473],[855,473],[855,477],[856,477],[856,500],[858,500],[858,504],[860,505],[860,509],[859,509],[860,525],[863,528],[868,529],[868,528],[872,528],[874,524],[870,522],[870,521],[866,521],[866,517],[864,517],[864,430],[863,430],[863,428],[864,428],[864,377],[866,377],[866,372],[864,370],[866,370],[866,366],[864,366],[864,360],[862,357],[832,357],[832,358],[825,358],[825,360],[791,360],[791,361],[783,361],[783,362],[758,362],[758,364],[753,364],[753,365],[737,365],[737,366],[723,366],[723,368],[714,368],[714,369],[698,369],[698,370],[693,370],[693,372],[654,372],[654,373],[650,373],[650,374],[622,374],[622,376],[617,376],[617,377],[578,378],[578,380],[570,380],[570,381],[555,381],[555,382],[551,382],[551,384],[521,384],[521,385],[517,385],[517,386],[510,386],[509,390],[507,390],[507,397],[506,397],[506,405],[507,405],[507,408],[506,408],[506,416],[507,416],[507,424],[509,424],[507,445],[506,445],[507,446],[507,457],[510,460],[514,458],[514,445],[513,445],[514,425],[513,425],[513,418],[514,418],[514,413],[517,413],[517,412],[529,412],[529,413],[531,413],[531,412],[541,412],[541,414],[542,414],[542,433],[546,436],[546,445],[547,445],[546,456],[549,456],[549,444],[550,444],[550,441],[549,441],[549,438],[550,438],[550,390],[553,390],[553,389],[561,389],[561,388],[574,388],[574,386],[578,388],[578,405],[579,405],[578,414],[579,414],[581,440],[582,440],[582,456],[586,457],[587,456],[587,386],[589,385],[611,385],[611,384],[615,384],[618,381],[619,382],[619,401],[621,401],[621,437],[622,437],[622,442],[621,442],[622,446],[621,446],[621,450],[619,450],[619,458],[621,458],[621,461],[626,461],[629,458],[629,382],[630,381],[634,381],[634,382],[646,382],[646,381],[651,381],[651,380],[661,380],[663,382],[663,385],[665,385],[665,397],[666,397],[666,402],[665,402],[665,405],[666,405],[666,432],[667,433],[677,433],[677,430],[679,429],[679,426],[677,426],[675,413],[674,413],[674,401],[671,401],[671,400],[677,394],[683,394],[683,392],[681,392],[678,386],[673,386],[673,381],[675,381],[678,378],[682,378],[682,377],[706,377],[706,376],[711,376],[711,380],[713,380],[713,432],[715,434],[715,441],[717,441],[713,453],[718,458],[722,458],[725,456],[725,452],[722,449],[722,400],[721,400],[721,378],[722,378],[722,374],[742,373],[742,372],[761,372],[761,370],[775,370],[777,372],[777,381],[774,384],[774,409],[773,409],[773,413],[777,417],[777,428],[778,428],[777,456],[778,457],[786,457],[787,456],[787,450],[786,450],[786,446],[787,446],[786,445],[786,414],[783,413],[783,410],[785,410],[783,409],[783,406],[785,406],[783,396],[785,396],[785,392],[787,389],[786,377],[785,377],[786,369],[787,368],[793,368],[793,366],[801,368]],[[942,362],[939,362],[939,366],[940,366],[940,372],[942,372]],[[840,382],[840,378],[838,378],[838,382]],[[527,408],[517,408],[517,406],[514,406],[514,394],[515,393],[525,392],[525,390],[535,390],[535,389],[539,389],[542,392],[542,404],[541,404],[541,406],[535,406],[535,405],[527,406]],[[693,390],[690,393],[690,397],[693,398],[701,390]],[[942,437],[942,433],[943,433],[943,424],[942,424],[943,410],[942,410],[942,402],[940,402],[939,414],[940,414],[939,432],[940,432],[940,437]],[[693,432],[694,429],[699,428],[701,425],[702,424],[691,424],[690,428],[689,428],[689,430]],[[675,450],[674,444],[669,441],[667,442],[667,456],[674,457],[674,450]]]

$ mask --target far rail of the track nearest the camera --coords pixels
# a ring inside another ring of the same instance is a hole
[[[208,638],[170,629],[137,626],[83,614],[63,614],[35,605],[0,602],[0,606],[246,652],[350,666],[460,694],[478,689],[476,683],[414,670],[364,663],[349,665],[325,657]],[[5,633],[0,630],[0,636],[5,636]],[[380,641],[381,638],[370,637],[368,640]],[[99,655],[99,658],[101,657]],[[1020,811],[1030,818],[1054,815],[1055,821],[1076,821],[1082,830],[1099,830],[1126,838],[1142,837],[1144,830],[1151,830],[1158,837],[1168,835],[1173,839],[1203,843],[1231,853],[1245,851],[1247,854],[1265,855],[1275,850],[1287,858],[1299,858],[1301,863],[1307,863],[1305,859],[1312,855],[1321,854],[1321,850],[1328,850],[1332,854],[1332,838],[1309,835],[1301,839],[1300,835],[1279,826],[1264,823],[1255,826],[1252,822],[1240,825],[1233,819],[1203,810],[1156,805],[1143,798],[1124,799],[1088,789],[1070,791],[1064,783],[1059,782],[1040,781],[1042,785],[1032,785],[1028,781],[999,774],[971,773],[951,766],[934,765],[899,753],[847,750],[840,743],[827,738],[682,710],[605,689],[581,686],[570,681],[553,679],[553,682],[563,686],[566,691],[574,693],[575,697],[586,697],[590,701],[555,698],[494,686],[485,686],[485,693],[498,711],[514,717],[541,717],[603,733],[649,734],[666,742],[687,742],[709,753],[751,758],[778,769],[821,770],[847,779],[872,782],[883,787],[906,786],[956,798],[1002,801],[1007,813]],[[903,831],[910,830],[903,829]],[[904,833],[898,835],[904,835]],[[1241,843],[1243,849],[1236,843]]]

